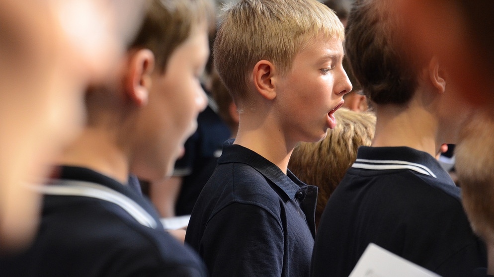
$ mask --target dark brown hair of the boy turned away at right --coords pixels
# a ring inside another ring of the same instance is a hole
[[[403,44],[401,16],[382,0],[357,1],[346,26],[345,51],[365,95],[376,104],[405,104],[418,85],[418,65]]]

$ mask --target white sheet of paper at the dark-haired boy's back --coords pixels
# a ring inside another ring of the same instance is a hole
[[[349,277],[440,277],[388,250],[370,243]]]

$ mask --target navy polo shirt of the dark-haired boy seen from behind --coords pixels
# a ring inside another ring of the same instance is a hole
[[[460,189],[434,157],[409,147],[358,149],[323,212],[313,276],[347,277],[371,242],[445,277],[487,264]]]

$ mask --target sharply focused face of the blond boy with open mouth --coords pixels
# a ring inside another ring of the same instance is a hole
[[[343,105],[343,95],[352,90],[342,59],[341,40],[314,39],[281,77],[275,101],[291,142],[319,141],[335,127],[333,114]]]

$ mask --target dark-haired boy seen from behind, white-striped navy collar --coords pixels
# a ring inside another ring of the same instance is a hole
[[[486,264],[460,189],[434,158],[443,143],[458,142],[472,108],[437,58],[398,46],[398,14],[381,0],[350,13],[345,50],[376,131],[329,198],[313,276],[348,276],[371,242],[441,276],[470,276]]]

